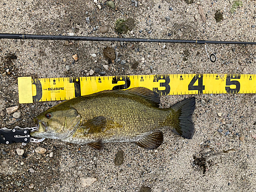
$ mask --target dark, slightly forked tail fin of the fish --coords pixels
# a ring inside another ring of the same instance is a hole
[[[169,115],[165,120],[165,126],[172,127],[172,131],[183,138],[192,139],[195,133],[195,125],[192,120],[195,104],[195,97],[174,104],[168,109]]]

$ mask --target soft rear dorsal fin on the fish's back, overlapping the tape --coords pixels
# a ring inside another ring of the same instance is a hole
[[[152,106],[155,106],[157,108],[159,106],[159,103],[160,103],[159,95],[156,92],[151,91],[150,89],[137,87],[137,88],[124,90],[123,92],[138,95],[140,97],[143,97],[147,102],[150,102]]]

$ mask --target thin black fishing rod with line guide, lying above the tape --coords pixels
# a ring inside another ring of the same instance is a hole
[[[204,44],[208,58],[211,62],[217,60],[217,56],[211,51],[208,44],[245,44],[256,45],[256,42],[246,41],[214,41],[214,40],[181,40],[181,39],[148,39],[148,38],[119,38],[119,37],[90,37],[90,36],[62,36],[62,35],[33,35],[0,33],[0,39],[45,39],[45,40],[88,40],[88,41],[126,41],[126,42],[175,42],[188,44]],[[208,55],[207,48],[211,54]]]

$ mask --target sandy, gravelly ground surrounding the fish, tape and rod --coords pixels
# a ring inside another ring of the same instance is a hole
[[[117,0],[116,10],[101,0],[101,10],[92,0],[3,0],[0,2],[0,32],[256,41],[255,1],[242,2],[243,6],[231,13],[231,0],[196,1],[192,4],[141,0],[137,7],[131,0]],[[199,14],[199,5],[206,15],[206,23]],[[218,10],[223,12],[224,19],[217,23],[215,13]],[[169,16],[168,21],[166,16]],[[90,24],[86,17],[90,17]],[[133,32],[115,32],[116,20],[129,17],[135,20]],[[93,30],[96,26],[108,26],[109,31],[101,34],[99,30]],[[148,33],[150,30],[152,32]],[[114,48],[117,57],[126,63],[121,65],[106,59],[102,52],[107,46]],[[204,46],[194,44],[73,41],[72,45],[66,46],[64,41],[2,39],[0,110],[6,113],[6,108],[18,105],[21,117],[15,119],[3,114],[0,127],[34,126],[33,117],[59,102],[19,104],[17,77],[20,76],[86,76],[96,68],[105,71],[105,76],[256,73],[255,46],[210,47],[217,54],[216,63],[209,61]],[[92,57],[93,53],[96,57]],[[8,58],[8,54],[16,55],[17,59]],[[74,54],[78,55],[76,62],[72,58]],[[142,57],[145,62],[142,62]],[[109,65],[109,69],[104,70],[102,65]],[[70,69],[67,70],[66,66]],[[8,69],[10,74],[4,74]],[[170,130],[163,130],[164,142],[153,151],[133,143],[109,143],[105,144],[103,151],[95,151],[86,145],[51,139],[26,146],[21,143],[1,144],[1,191],[255,191],[256,141],[253,137],[256,134],[256,96],[195,96],[194,138],[186,140]],[[185,97],[190,96],[164,96],[161,103],[168,107]],[[38,154],[34,151],[37,146],[47,151]],[[17,148],[25,153],[17,155]],[[236,152],[212,158],[208,161],[209,168],[206,167],[205,157],[230,149]],[[211,151],[201,154],[202,150]],[[124,153],[124,162],[120,166],[114,164],[118,151]],[[50,157],[51,152],[53,157]],[[84,187],[81,181],[86,177],[97,181]]]

